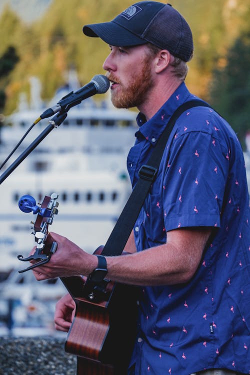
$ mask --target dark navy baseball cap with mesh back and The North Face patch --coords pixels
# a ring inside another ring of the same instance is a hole
[[[136,2],[110,22],[84,25],[83,33],[115,46],[149,42],[184,61],[193,51],[192,32],[186,20],[170,4],[158,1]]]

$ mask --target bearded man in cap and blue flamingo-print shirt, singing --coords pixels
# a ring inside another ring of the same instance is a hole
[[[191,31],[171,5],[141,1],[83,32],[109,44],[103,68],[113,104],[140,111],[127,158],[134,186],[174,110],[194,98],[184,84]],[[129,254],[105,257],[109,279],[142,289],[129,374],[250,373],[249,218],[235,133],[211,108],[185,111],[124,248]],[[95,255],[51,236],[58,250],[34,269],[37,280],[97,267]],[[68,330],[73,309],[69,295],[57,303],[57,329]]]

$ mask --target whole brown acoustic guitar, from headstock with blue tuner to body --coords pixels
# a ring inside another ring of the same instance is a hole
[[[22,261],[36,260],[28,269],[45,264],[56,251],[50,242],[48,225],[58,213],[58,195],[45,196],[36,205],[34,198],[23,195],[18,202],[24,212],[37,213],[31,221],[36,249]],[[100,254],[102,246],[94,253]],[[87,277],[60,278],[72,296],[76,311],[65,341],[65,351],[77,356],[77,375],[125,375],[136,334],[136,288],[108,279],[93,283]]]

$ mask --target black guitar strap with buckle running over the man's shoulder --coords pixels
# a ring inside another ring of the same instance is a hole
[[[147,164],[142,165],[140,168],[139,179],[116,221],[116,224],[103,247],[101,255],[113,256],[121,254],[145,197],[156,177],[167,139],[173,129],[175,121],[182,112],[195,106],[210,107],[210,105],[203,100],[193,99],[181,104],[170,117],[164,131],[157,141],[157,144],[154,146]]]

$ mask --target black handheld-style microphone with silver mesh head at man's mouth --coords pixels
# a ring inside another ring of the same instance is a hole
[[[94,75],[89,83],[85,84],[77,91],[71,91],[67,95],[63,96],[58,103],[53,105],[51,108],[46,109],[41,115],[40,119],[52,116],[54,113],[60,112],[62,109],[71,108],[74,105],[79,104],[83,99],[89,96],[95,95],[96,93],[104,93],[109,88],[109,79],[103,74]]]

